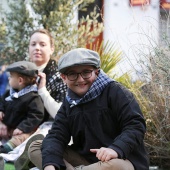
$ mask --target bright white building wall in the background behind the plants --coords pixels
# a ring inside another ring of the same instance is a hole
[[[104,41],[116,43],[124,53],[119,73],[136,72],[134,79],[143,74],[138,62],[146,62],[141,54],[148,55],[158,44],[159,13],[159,0],[151,0],[146,6],[130,6],[128,0],[104,0]]]

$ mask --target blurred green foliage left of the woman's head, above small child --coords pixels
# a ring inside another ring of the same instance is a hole
[[[23,0],[8,1],[11,11],[5,13],[6,24],[5,49],[1,51],[1,62],[11,63],[23,60],[28,49],[28,35],[33,20],[29,17],[29,11]]]

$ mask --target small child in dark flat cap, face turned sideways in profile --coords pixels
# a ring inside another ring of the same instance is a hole
[[[34,63],[8,66],[10,90],[0,101],[0,153],[8,153],[33,134],[44,119],[44,105],[37,93],[38,70]],[[7,142],[4,142],[7,141]]]

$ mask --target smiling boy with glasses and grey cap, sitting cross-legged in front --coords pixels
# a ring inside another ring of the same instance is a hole
[[[30,146],[31,161],[44,170],[148,170],[140,107],[129,90],[100,69],[98,53],[71,50],[58,68],[68,86],[66,99],[41,150]],[[36,163],[37,153],[42,160],[37,155]]]

